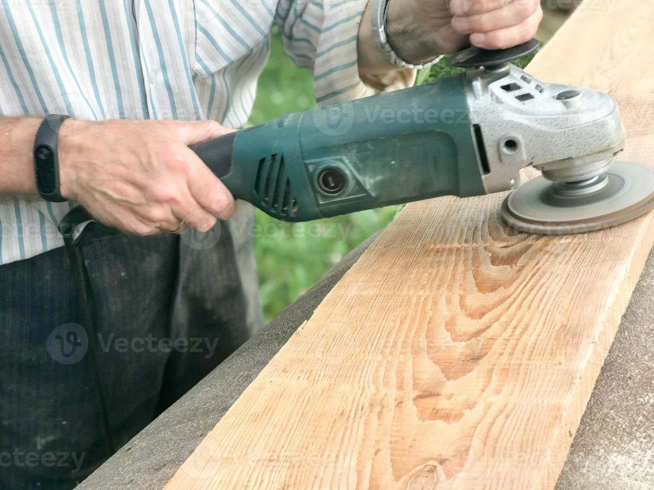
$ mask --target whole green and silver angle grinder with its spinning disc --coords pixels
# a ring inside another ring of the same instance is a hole
[[[463,73],[190,148],[234,197],[284,221],[509,189],[500,214],[530,233],[602,229],[654,208],[654,169],[615,161],[625,146],[615,99],[510,63],[536,48],[468,48],[450,57]],[[528,166],[542,175],[518,186]]]

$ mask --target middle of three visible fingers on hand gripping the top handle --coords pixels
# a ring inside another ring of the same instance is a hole
[[[454,16],[452,27],[464,34],[496,31],[520,24],[540,9],[538,0],[515,0],[506,7],[496,8],[483,14]]]

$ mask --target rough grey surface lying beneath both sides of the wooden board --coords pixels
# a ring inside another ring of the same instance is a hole
[[[79,489],[160,489],[375,237],[143,429]],[[654,489],[654,253],[581,419],[557,490]]]

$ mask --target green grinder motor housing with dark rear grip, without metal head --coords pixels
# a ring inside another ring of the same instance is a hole
[[[284,114],[191,148],[235,198],[283,221],[481,195],[463,76]]]

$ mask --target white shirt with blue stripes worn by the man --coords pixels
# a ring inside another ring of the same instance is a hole
[[[273,21],[288,55],[315,73],[320,103],[413,80],[411,73],[358,75],[356,35],[367,0],[0,1],[2,116],[213,119],[240,127]],[[63,245],[56,225],[73,206],[0,195],[0,264]]]

